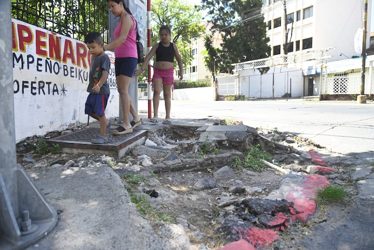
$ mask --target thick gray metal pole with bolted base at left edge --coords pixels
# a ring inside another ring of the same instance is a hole
[[[0,249],[18,250],[50,232],[57,212],[17,164],[10,0],[0,0],[0,23]]]

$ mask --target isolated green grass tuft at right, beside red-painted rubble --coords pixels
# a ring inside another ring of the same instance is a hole
[[[317,196],[313,197],[313,200],[319,206],[331,202],[345,203],[348,194],[348,190],[343,186],[328,185],[324,189],[317,189]]]

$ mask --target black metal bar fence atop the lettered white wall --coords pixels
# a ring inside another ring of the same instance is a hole
[[[103,0],[12,0],[12,18],[79,40],[95,31],[107,43],[108,14]]]

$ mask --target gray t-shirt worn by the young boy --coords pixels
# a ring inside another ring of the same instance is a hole
[[[98,83],[100,78],[102,77],[102,70],[106,70],[109,72],[110,69],[110,60],[107,54],[92,57],[91,60],[91,68],[89,70],[89,84],[87,87],[87,92],[92,94],[110,94],[108,79],[106,79],[105,83],[102,85],[99,93],[95,93],[92,88],[94,84]]]

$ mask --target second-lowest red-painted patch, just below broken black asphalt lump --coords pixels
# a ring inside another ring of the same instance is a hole
[[[252,243],[255,247],[258,246],[271,246],[274,241],[278,239],[278,234],[271,229],[261,228],[236,228],[238,236]]]

